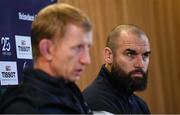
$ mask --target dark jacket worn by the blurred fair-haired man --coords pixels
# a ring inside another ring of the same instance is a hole
[[[3,95],[0,113],[90,112],[75,83],[66,83],[40,70],[26,70],[22,81]]]

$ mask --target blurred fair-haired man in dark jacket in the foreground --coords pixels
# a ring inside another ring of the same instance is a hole
[[[31,38],[34,68],[5,93],[0,113],[89,113],[74,83],[90,63],[87,16],[67,4],[49,5],[37,14]]]

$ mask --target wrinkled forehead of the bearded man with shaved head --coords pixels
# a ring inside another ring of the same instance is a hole
[[[118,38],[117,45],[120,49],[132,49],[137,52],[150,51],[150,43],[145,35],[136,36],[134,34],[122,35]]]

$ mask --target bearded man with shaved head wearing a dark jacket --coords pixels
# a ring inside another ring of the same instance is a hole
[[[89,107],[101,113],[148,114],[146,103],[134,94],[147,86],[150,44],[134,25],[119,25],[108,36],[105,64],[83,95]]]

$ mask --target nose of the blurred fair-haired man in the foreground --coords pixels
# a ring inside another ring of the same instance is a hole
[[[91,63],[91,57],[89,51],[84,52],[80,57],[80,62],[84,65],[88,65]]]

